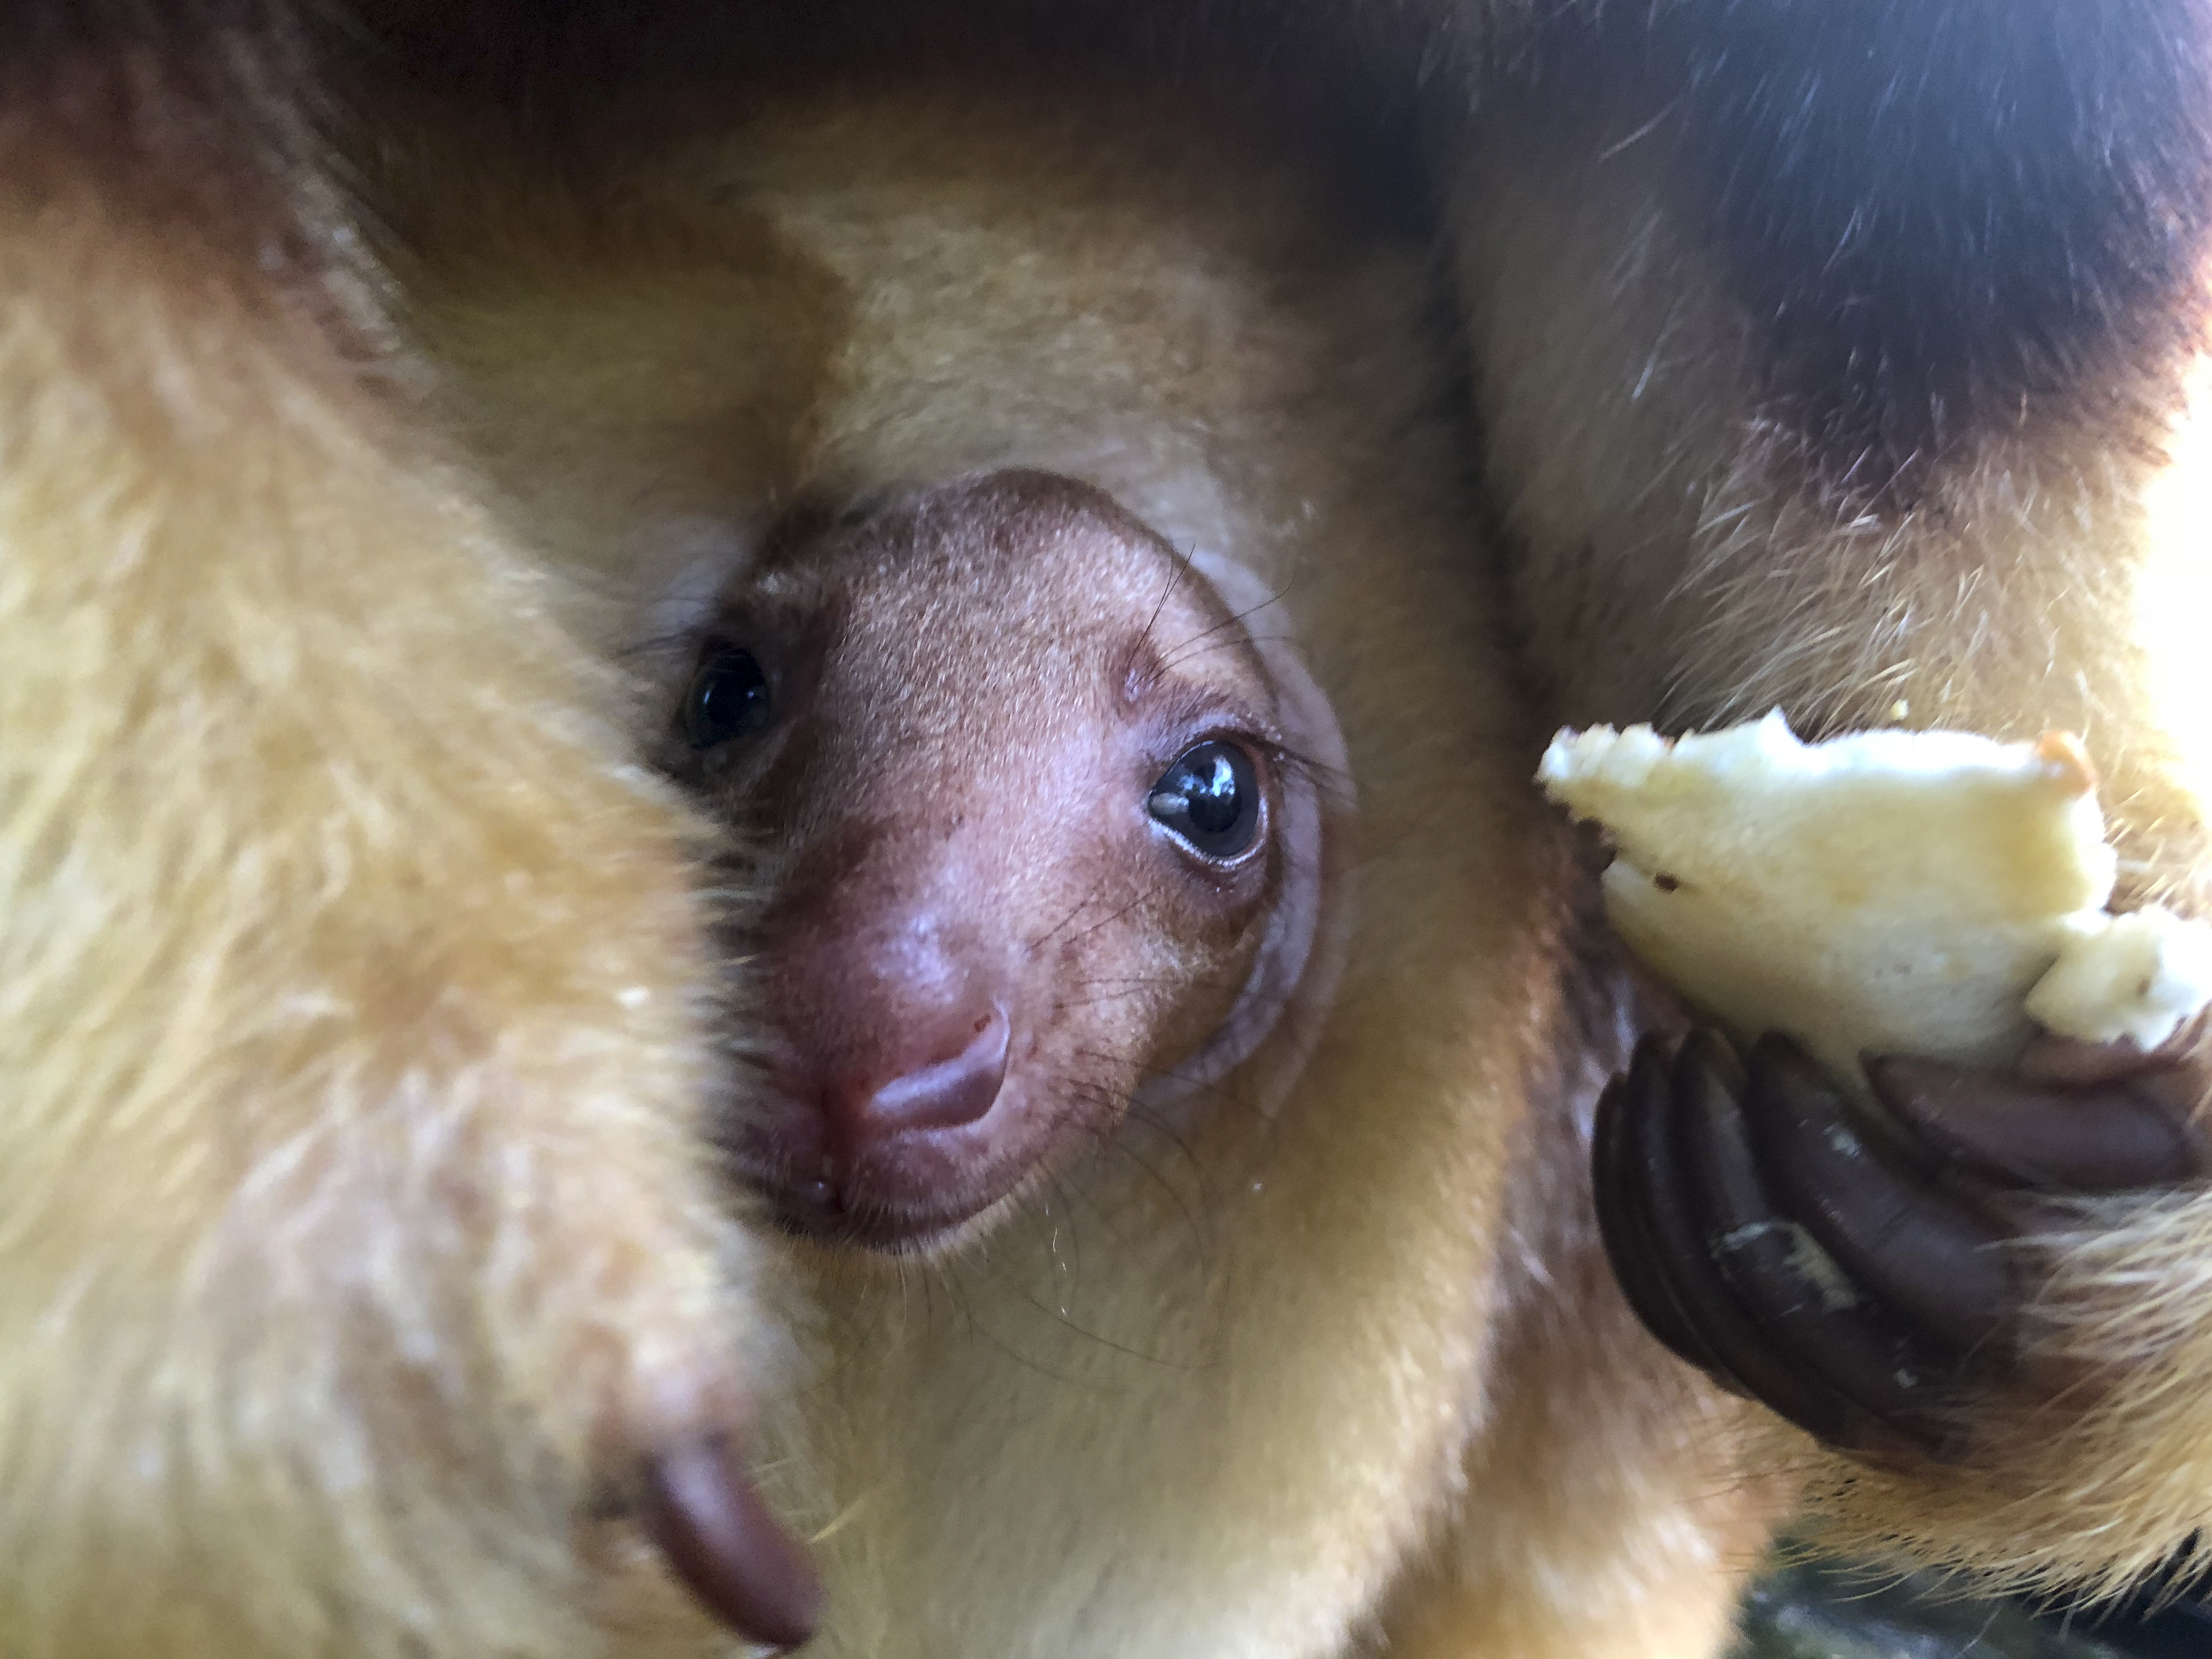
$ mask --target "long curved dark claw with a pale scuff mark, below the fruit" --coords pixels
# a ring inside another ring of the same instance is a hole
[[[1801,1383],[1820,1378],[1847,1402],[1840,1420],[1829,1413],[1834,1427],[1816,1433],[1869,1444],[1878,1431],[1854,1420],[1863,1413],[1905,1440],[1940,1447],[1944,1356],[1885,1318],[1814,1237],[1774,1208],[1743,1121],[1743,1088],[1734,1055],[1692,1033],[1674,1062],[1674,1133],[1712,1263],[1785,1371]]]

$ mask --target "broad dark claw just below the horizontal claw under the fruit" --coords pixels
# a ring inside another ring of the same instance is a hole
[[[1787,1037],[1759,1040],[1750,1077],[1752,1150],[1776,1208],[1931,1347],[2004,1369],[2020,1307],[2006,1230],[1867,1133]]]

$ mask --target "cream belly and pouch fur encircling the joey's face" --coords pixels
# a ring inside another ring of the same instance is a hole
[[[624,204],[591,250],[453,215],[422,323],[580,564],[666,568],[701,520],[737,546],[805,489],[1048,467],[1254,568],[1250,626],[1345,728],[1354,947],[1276,1115],[1232,1079],[1133,1119],[958,1261],[785,1252],[821,1307],[792,1429],[821,1648],[1340,1655],[1396,1593],[1416,1652],[1688,1659],[1770,1502],[1575,1221],[1619,1037],[1564,1004],[1427,257],[1256,148],[1110,102],[779,104],[586,184]],[[617,380],[670,396],[637,427]],[[1593,1057],[1562,1077],[1562,1048]]]

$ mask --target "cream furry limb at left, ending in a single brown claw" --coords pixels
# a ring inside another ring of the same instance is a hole
[[[577,1520],[776,1352],[681,812],[228,250],[62,177],[0,288],[0,1652],[703,1628]]]

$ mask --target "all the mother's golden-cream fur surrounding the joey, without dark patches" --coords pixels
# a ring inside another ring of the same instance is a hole
[[[1666,108],[1469,124],[1447,31],[1498,540],[1420,232],[1232,102],[878,86],[560,150],[378,86],[341,168],[254,124],[341,69],[188,15],[18,53],[0,124],[0,1652],[712,1652],[591,1515],[737,1422],[834,1652],[1697,1655],[1774,1509],[1745,1469],[2015,1577],[2212,1522],[2203,1197],[2062,1254],[2051,1340],[2119,1380],[1960,1464],[1747,1429],[1632,1325],[1579,1126],[1637,1009],[1526,790],[1551,717],[2068,723],[2137,891],[2197,898],[2188,363],[1911,509],[1820,484]],[[217,38],[230,102],[164,80]],[[1276,1117],[1133,1124],[898,1279],[701,1168],[699,832],[604,659],[785,491],[1011,462],[1281,586],[1360,931]]]

